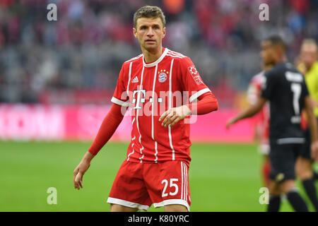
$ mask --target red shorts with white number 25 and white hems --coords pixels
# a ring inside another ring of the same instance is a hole
[[[179,204],[190,210],[189,166],[180,160],[158,163],[124,161],[107,203],[148,210]]]

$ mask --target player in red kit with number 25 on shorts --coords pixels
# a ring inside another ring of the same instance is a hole
[[[160,8],[139,8],[133,32],[142,54],[122,65],[112,108],[74,170],[74,187],[83,188],[90,160],[131,107],[131,142],[107,199],[110,210],[148,210],[153,204],[165,211],[189,211],[189,115],[215,111],[218,102],[189,57],[163,48],[165,16]]]

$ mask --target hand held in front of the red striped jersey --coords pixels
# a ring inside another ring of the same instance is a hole
[[[173,107],[163,112],[160,116],[159,121],[163,121],[162,126],[175,126],[175,124],[191,114],[191,110],[187,105],[181,107]]]

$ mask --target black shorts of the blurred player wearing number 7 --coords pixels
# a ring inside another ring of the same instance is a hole
[[[269,178],[276,182],[283,182],[287,179],[296,179],[295,162],[300,155],[303,143],[277,144],[271,142],[271,172]]]

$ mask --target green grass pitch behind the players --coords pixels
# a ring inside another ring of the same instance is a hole
[[[107,143],[86,172],[84,189],[78,191],[73,189],[73,169],[89,146],[81,142],[0,142],[0,211],[108,211],[107,196],[128,144]],[[192,211],[266,210],[259,203],[262,182],[257,145],[194,143],[191,155]],[[305,196],[299,182],[298,186]],[[49,187],[57,189],[57,205],[47,204]],[[292,209],[283,201],[281,210]],[[152,206],[149,211],[163,208]]]

